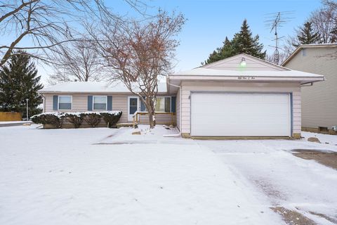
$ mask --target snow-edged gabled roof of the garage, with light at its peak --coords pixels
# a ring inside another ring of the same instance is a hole
[[[239,65],[243,58],[246,61],[246,66],[240,67]],[[199,68],[169,75],[169,82],[175,85],[180,84],[181,80],[191,81],[196,79],[204,81],[231,80],[236,82],[300,82],[301,84],[306,84],[322,81],[324,76],[290,70],[244,53]]]

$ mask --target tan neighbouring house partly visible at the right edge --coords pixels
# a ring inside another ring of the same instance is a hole
[[[326,77],[326,82],[302,86],[302,129],[336,134],[337,44],[300,45],[282,65]]]

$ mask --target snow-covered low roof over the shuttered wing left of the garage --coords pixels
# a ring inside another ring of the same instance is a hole
[[[137,89],[135,89],[137,91]],[[40,93],[130,93],[125,84],[121,82],[65,82],[47,86]],[[158,84],[158,92],[166,93],[166,83]]]

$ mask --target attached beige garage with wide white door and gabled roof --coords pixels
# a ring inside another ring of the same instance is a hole
[[[169,75],[167,82],[177,94],[177,127],[185,138],[300,139],[301,86],[323,80],[241,53]]]

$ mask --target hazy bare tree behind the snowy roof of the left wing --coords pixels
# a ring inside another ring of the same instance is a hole
[[[50,84],[104,79],[103,65],[90,41],[72,41],[62,45],[60,52],[55,54],[55,60],[58,64],[53,65],[55,74],[49,77]]]

